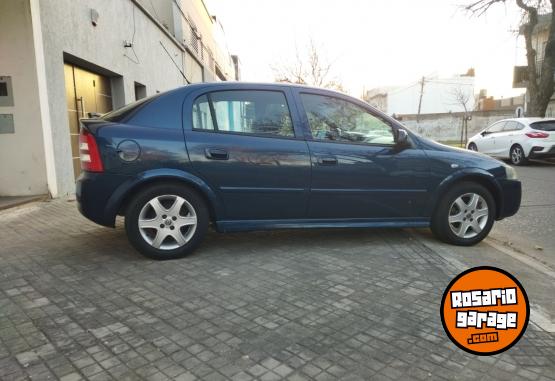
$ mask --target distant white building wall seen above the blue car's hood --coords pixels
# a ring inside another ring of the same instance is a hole
[[[387,113],[417,114],[420,100],[420,82],[388,92]],[[474,109],[474,78],[454,77],[446,79],[426,79],[422,96],[421,114],[462,112],[464,107],[456,99],[455,93],[462,92],[467,98],[468,110]]]

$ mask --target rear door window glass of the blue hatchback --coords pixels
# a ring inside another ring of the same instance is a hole
[[[285,95],[279,91],[219,91],[197,98],[193,128],[294,137]]]

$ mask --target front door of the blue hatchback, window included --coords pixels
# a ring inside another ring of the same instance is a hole
[[[312,160],[309,218],[421,215],[428,162],[422,150],[396,146],[393,121],[335,93],[302,91],[297,100]]]

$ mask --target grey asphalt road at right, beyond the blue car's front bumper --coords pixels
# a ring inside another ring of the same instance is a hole
[[[522,181],[519,212],[498,221],[491,237],[555,269],[555,163],[516,167]]]

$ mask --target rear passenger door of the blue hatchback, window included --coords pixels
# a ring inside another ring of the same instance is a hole
[[[310,154],[290,104],[283,87],[195,92],[185,101],[191,163],[220,195],[226,220],[305,216]]]

